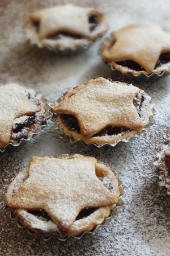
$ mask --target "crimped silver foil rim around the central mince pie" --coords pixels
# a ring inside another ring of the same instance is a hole
[[[111,80],[111,79],[108,79],[108,80]],[[111,80],[112,81],[112,80]],[[113,82],[118,82],[119,81],[113,81]],[[125,83],[127,84],[127,83]],[[127,84],[129,85],[129,84]],[[80,85],[81,86],[81,85]],[[74,88],[70,88],[69,90],[73,90],[75,88],[78,88],[79,86],[75,86]],[[69,90],[67,90],[66,92],[62,93],[61,96],[58,98],[56,104],[59,104],[61,101],[64,100],[65,98],[65,95],[67,94],[67,92],[69,92]],[[151,101],[152,102],[152,101]],[[86,144],[84,143],[83,141],[74,141],[74,138],[71,136],[71,135],[66,135],[64,133],[64,131],[60,128],[59,126],[59,122],[57,121],[57,117],[58,115],[57,114],[53,114],[53,117],[52,117],[52,121],[54,122],[54,129],[55,130],[60,130],[60,135],[59,135],[59,138],[63,139],[64,137],[66,138],[69,138],[70,140],[70,143],[74,144],[74,143],[78,143],[78,142],[81,142],[83,144],[83,146],[85,147],[88,147],[88,146],[91,146],[91,145],[94,145],[98,148],[100,147],[103,147],[103,146],[111,146],[111,147],[115,147],[117,144],[121,144],[121,143],[127,143],[129,141],[132,141],[134,140],[135,138],[137,137],[140,137],[142,133],[145,133],[145,131],[148,131],[148,129],[150,128],[150,126],[154,125],[155,124],[155,119],[154,119],[154,115],[156,114],[156,110],[154,109],[154,106],[152,106],[152,115],[150,116],[149,118],[149,122],[148,124],[141,130],[141,131],[138,131],[135,135],[133,136],[130,136],[128,137],[127,139],[122,139],[120,141],[116,141],[115,143],[103,143],[103,144],[100,144],[100,145],[97,145],[95,143],[90,143],[90,144]]]

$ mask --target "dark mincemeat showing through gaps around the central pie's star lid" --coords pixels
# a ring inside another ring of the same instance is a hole
[[[141,111],[142,108],[142,102],[145,100],[143,94],[141,94],[141,97],[139,97],[139,94],[137,97],[134,97],[133,104],[135,108],[137,109],[138,113]],[[139,115],[140,116],[140,115]],[[67,127],[70,131],[74,131],[75,133],[80,134],[80,126],[77,121],[77,119],[74,117],[74,115],[68,115],[68,114],[60,114],[59,115],[61,122],[64,126]],[[94,134],[92,137],[101,137],[104,135],[116,135],[116,134],[125,134],[131,131],[131,129],[126,129],[122,127],[112,127],[108,126],[105,129],[99,131],[99,133]]]

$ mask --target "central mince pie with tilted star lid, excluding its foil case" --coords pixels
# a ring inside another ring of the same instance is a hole
[[[67,92],[51,111],[58,115],[66,135],[101,145],[117,143],[145,129],[153,104],[143,90],[99,77]]]

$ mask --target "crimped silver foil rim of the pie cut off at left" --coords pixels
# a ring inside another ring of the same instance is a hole
[[[45,115],[45,117],[46,117],[46,125],[41,125],[41,126],[37,129],[36,133],[31,133],[27,139],[20,139],[19,143],[14,143],[14,144],[11,143],[11,142],[10,142],[10,143],[7,143],[4,148],[0,148],[0,152],[3,153],[3,152],[5,152],[5,150],[10,150],[10,149],[12,149],[12,148],[14,148],[14,147],[20,146],[20,144],[23,144],[24,142],[30,141],[30,140],[31,140],[32,138],[34,138],[37,134],[40,134],[41,131],[42,131],[46,126],[48,126],[48,119],[52,117],[52,113],[50,112],[51,107],[50,107],[50,105],[48,104],[48,101],[47,101],[44,97],[41,97],[40,100],[41,100],[42,103],[44,104],[43,108],[44,108],[44,110],[45,110],[44,115]]]

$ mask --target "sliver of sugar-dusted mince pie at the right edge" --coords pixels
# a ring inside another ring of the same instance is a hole
[[[159,176],[159,184],[167,188],[167,193],[170,195],[170,143],[166,142],[162,150],[158,153],[155,159],[157,167],[156,175]]]

